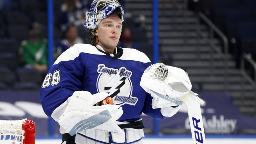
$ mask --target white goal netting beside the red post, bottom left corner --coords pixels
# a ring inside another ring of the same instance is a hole
[[[22,124],[26,120],[0,120],[0,144],[23,144],[25,130]]]

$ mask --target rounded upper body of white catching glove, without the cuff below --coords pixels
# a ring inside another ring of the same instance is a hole
[[[149,66],[142,75],[140,86],[149,93],[153,91],[168,98],[183,96],[192,89],[183,69],[163,63]]]

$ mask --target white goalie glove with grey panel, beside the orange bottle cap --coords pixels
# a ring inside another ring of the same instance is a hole
[[[84,129],[97,129],[123,133],[115,121],[123,114],[118,105],[94,106],[108,96],[101,92],[75,91],[67,100],[67,107],[59,117],[59,125],[71,136]]]

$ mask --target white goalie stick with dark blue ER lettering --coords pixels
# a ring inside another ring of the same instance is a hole
[[[204,101],[192,91],[189,91],[189,93],[178,99],[182,100],[187,106],[193,144],[205,144],[203,119],[200,108],[200,103],[204,104]]]

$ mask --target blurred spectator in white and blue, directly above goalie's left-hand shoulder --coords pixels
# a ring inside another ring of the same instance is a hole
[[[77,43],[84,43],[84,41],[78,35],[77,27],[75,25],[70,25],[65,31],[65,39],[56,44],[56,57]]]

